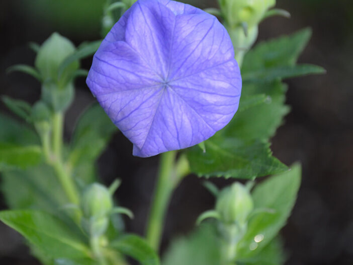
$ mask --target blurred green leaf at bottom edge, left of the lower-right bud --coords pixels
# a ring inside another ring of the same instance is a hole
[[[188,237],[171,242],[162,265],[219,265],[220,249],[216,229],[204,224]]]

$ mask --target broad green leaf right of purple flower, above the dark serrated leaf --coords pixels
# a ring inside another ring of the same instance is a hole
[[[285,91],[286,86],[279,81],[262,84],[244,83],[244,97],[263,93],[267,95],[267,100],[235,113],[220,134],[243,140],[268,141],[282,124],[283,117],[289,112],[289,107],[284,105]]]

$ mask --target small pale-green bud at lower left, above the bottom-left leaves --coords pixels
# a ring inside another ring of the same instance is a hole
[[[85,218],[94,217],[99,220],[108,217],[113,209],[113,200],[108,188],[99,183],[89,185],[83,191],[81,209]]]

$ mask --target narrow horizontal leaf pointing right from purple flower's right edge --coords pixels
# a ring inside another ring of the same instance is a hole
[[[299,77],[313,74],[325,74],[326,71],[322,67],[312,64],[285,65],[281,67],[272,67],[261,69],[258,71],[247,72],[242,75],[243,82],[259,81],[269,82],[291,77]]]

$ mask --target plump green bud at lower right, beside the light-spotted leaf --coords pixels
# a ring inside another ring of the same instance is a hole
[[[239,182],[224,188],[217,198],[216,211],[224,223],[243,226],[253,210],[253,201],[249,190]]]

